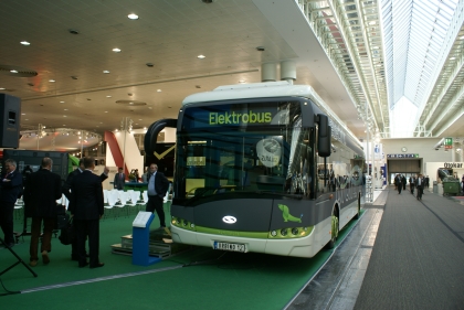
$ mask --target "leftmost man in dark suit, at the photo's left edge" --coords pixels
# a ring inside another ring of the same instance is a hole
[[[17,162],[12,159],[4,161],[6,173],[2,175],[0,185],[0,226],[4,234],[7,246],[14,246],[13,236],[13,211],[14,203],[22,192],[22,175],[17,171]]]

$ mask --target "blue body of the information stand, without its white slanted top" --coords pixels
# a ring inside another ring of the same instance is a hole
[[[149,256],[150,224],[154,218],[151,214],[145,227],[133,226],[133,265],[149,266],[161,261],[161,258]]]

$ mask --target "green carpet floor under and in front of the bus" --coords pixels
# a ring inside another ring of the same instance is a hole
[[[0,277],[6,289],[22,292],[0,297],[0,309],[282,309],[331,254],[321,250],[305,259],[193,247],[149,267],[134,266],[130,256],[110,253],[110,245],[131,233],[134,217],[135,212],[128,217],[122,212],[117,220],[101,222],[103,268],[77,268],[71,247],[53,238],[51,263],[33,268],[39,277],[22,264]],[[355,224],[340,232],[338,243]],[[151,227],[158,226],[155,218]],[[22,231],[21,220],[15,229]],[[13,247],[25,263],[29,240],[25,236]],[[0,249],[0,270],[15,261]]]

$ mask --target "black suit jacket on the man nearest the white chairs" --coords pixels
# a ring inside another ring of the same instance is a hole
[[[103,186],[98,175],[88,170],[74,175],[68,210],[75,220],[98,220],[103,215]]]

